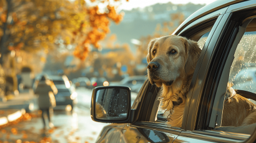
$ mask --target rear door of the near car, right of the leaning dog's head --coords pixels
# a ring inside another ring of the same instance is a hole
[[[187,101],[190,103],[185,108],[185,121],[182,122],[184,131],[180,132],[175,142],[254,142],[255,124],[244,127],[222,127],[221,124],[228,81],[234,81],[240,70],[255,63],[255,8],[255,1],[245,1],[227,7],[227,11],[220,15],[222,19],[207,45],[194,83],[192,81],[190,85],[190,88],[196,88],[189,91]],[[254,84],[253,79],[242,77],[244,81],[249,80],[248,85],[242,88],[244,93],[248,93],[253,89],[250,87]],[[234,86],[236,90],[238,87]],[[256,97],[254,93],[244,96]]]

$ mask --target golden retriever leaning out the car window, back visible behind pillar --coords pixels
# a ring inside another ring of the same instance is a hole
[[[153,39],[148,45],[147,75],[151,84],[162,87],[161,107],[170,126],[181,127],[185,101],[201,49],[197,42],[169,35]],[[242,126],[256,122],[255,104],[235,94],[224,104],[222,126]]]

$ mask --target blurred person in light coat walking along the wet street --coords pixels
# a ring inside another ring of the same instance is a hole
[[[47,114],[47,118],[49,120],[49,127],[54,127],[50,118],[50,109],[56,106],[56,101],[54,97],[54,95],[57,94],[56,86],[52,81],[47,80],[46,76],[42,76],[34,93],[39,95],[38,105],[39,109],[42,111],[42,121],[44,122],[44,129],[46,129],[46,120],[44,119],[44,113]]]

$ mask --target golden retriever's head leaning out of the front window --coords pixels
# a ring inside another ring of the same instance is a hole
[[[194,73],[201,49],[197,42],[177,35],[153,39],[148,45],[147,75],[157,86],[182,86]]]

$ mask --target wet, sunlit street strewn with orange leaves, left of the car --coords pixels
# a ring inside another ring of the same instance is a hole
[[[43,130],[40,113],[31,120],[3,127],[0,130],[0,141],[7,142],[96,142],[101,129],[106,123],[94,122],[91,119],[91,92],[85,88],[77,91],[77,106],[71,111],[65,107],[54,108],[52,123],[54,127]],[[46,121],[47,118],[45,117]]]

